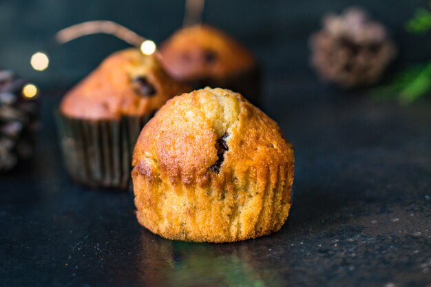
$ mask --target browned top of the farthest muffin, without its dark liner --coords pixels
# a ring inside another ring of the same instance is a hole
[[[180,81],[223,78],[255,65],[240,43],[208,25],[178,30],[162,43],[159,56],[169,74]]]

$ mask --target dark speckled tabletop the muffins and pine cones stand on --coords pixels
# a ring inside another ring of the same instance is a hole
[[[55,94],[43,94],[34,160],[0,176],[0,286],[431,286],[430,100],[271,78],[264,110],[295,145],[288,221],[257,240],[193,244],[139,226],[132,193],[69,180]]]

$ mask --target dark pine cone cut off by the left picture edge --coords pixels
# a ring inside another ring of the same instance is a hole
[[[38,127],[37,89],[10,70],[0,70],[0,171],[32,154]]]

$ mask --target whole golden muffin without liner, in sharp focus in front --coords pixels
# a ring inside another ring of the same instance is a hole
[[[138,221],[172,240],[266,235],[291,207],[292,145],[277,123],[228,89],[169,100],[140,133],[132,164]]]

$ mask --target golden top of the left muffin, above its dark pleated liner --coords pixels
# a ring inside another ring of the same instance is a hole
[[[154,55],[131,48],[108,56],[65,95],[60,109],[65,116],[88,120],[141,116],[187,90],[162,69]]]

